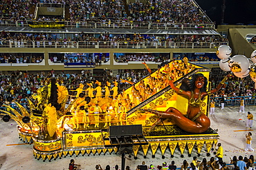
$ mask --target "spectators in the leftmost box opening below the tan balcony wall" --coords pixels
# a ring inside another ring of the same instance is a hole
[[[44,60],[44,54],[12,54],[0,53],[0,63],[41,63]]]

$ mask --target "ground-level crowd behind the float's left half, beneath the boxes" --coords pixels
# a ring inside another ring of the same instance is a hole
[[[111,70],[105,70],[106,74],[102,82],[114,81],[120,82],[120,78],[132,78],[140,79],[147,74],[145,70],[120,70],[116,75],[113,75]],[[37,92],[39,87],[48,85],[51,77],[57,79],[57,83],[65,85],[68,90],[75,90],[79,87],[80,83],[87,87],[86,83],[95,81],[93,72],[91,70],[82,70],[74,72],[60,72],[60,71],[42,71],[42,72],[28,72],[20,71],[10,72],[9,74],[0,75],[0,101],[8,103],[8,97],[14,98],[16,101],[26,103],[26,96],[30,96]],[[103,85],[103,84],[102,84]],[[93,87],[95,84],[93,84]],[[111,85],[113,87],[113,84]],[[120,90],[125,88],[125,83],[120,83]],[[9,103],[10,104],[10,103]]]

